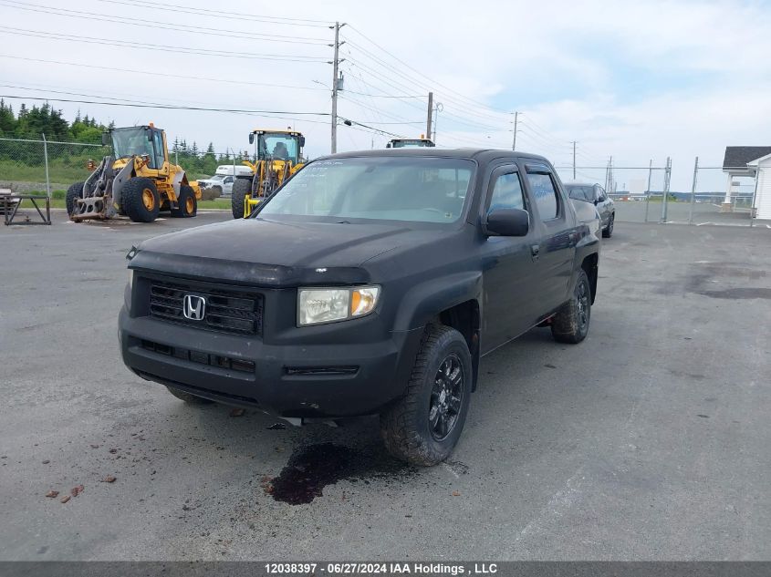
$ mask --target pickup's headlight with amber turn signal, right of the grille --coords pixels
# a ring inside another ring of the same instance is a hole
[[[334,323],[375,310],[380,286],[307,288],[297,291],[297,326]]]

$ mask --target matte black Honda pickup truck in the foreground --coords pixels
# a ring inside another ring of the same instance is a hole
[[[587,335],[599,240],[542,157],[391,149],[314,160],[251,218],[128,258],[138,376],[296,424],[379,414],[391,454],[432,465],[482,355],[537,325]]]

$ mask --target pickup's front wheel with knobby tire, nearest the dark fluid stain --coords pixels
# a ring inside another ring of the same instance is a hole
[[[407,394],[380,415],[380,435],[397,459],[430,467],[453,452],[464,429],[472,361],[463,335],[428,325]]]

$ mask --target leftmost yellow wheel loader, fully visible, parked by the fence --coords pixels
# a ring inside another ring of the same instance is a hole
[[[107,220],[126,214],[133,222],[152,222],[160,211],[172,217],[195,216],[201,189],[188,180],[181,167],[169,162],[166,133],[147,126],[109,129],[102,145],[112,154],[93,168],[85,182],[67,191],[67,211],[72,221]]]

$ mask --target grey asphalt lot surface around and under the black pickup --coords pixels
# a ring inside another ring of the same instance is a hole
[[[375,418],[284,428],[122,365],[125,253],[226,218],[0,228],[0,559],[771,558],[765,227],[618,223],[588,339],[485,357],[452,459],[411,469]]]

